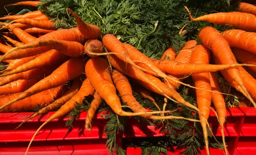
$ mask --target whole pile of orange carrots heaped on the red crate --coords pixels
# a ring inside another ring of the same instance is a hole
[[[37,6],[38,3],[25,1],[12,5]],[[204,27],[198,34],[201,44],[198,40],[190,40],[178,53],[170,46],[160,60],[149,59],[134,46],[120,42],[113,34],[102,34],[98,26],[85,23],[70,8],[66,10],[67,14],[75,17],[76,28],[56,30],[54,21],[49,21],[49,17],[41,11],[0,18],[12,20],[1,23],[3,26],[0,29],[9,29],[18,38],[17,41],[3,36],[9,43],[0,44],[3,53],[0,61],[8,63],[0,75],[0,110],[23,112],[40,104],[42,109],[24,120],[25,123],[59,108],[37,132],[49,121],[73,110],[75,103],[82,104],[87,96],[92,95],[85,123],[87,130],[91,130],[91,120],[105,100],[120,116],[200,121],[209,154],[207,119],[211,101],[224,142],[226,107],[217,71],[256,107],[256,79],[253,76],[256,73],[256,6],[240,3],[238,12],[214,13],[198,18],[193,18],[186,8],[192,21],[228,24],[236,29],[219,32],[210,26]],[[31,34],[44,35],[34,37]],[[211,60],[215,64],[209,64]],[[246,66],[246,69],[242,66]],[[183,83],[190,75],[194,86]],[[160,78],[163,78],[163,82]],[[70,87],[65,85],[68,82],[72,84]],[[180,96],[177,92],[180,85],[195,88],[197,107]],[[127,106],[122,106],[116,89]],[[133,91],[149,99],[159,111],[146,110],[135,99]],[[170,111],[165,109],[166,105],[161,110],[149,91],[197,111],[200,120],[164,116]],[[55,101],[52,102],[53,99]],[[129,107],[134,113],[126,112],[122,107]],[[28,150],[29,147],[26,153]]]

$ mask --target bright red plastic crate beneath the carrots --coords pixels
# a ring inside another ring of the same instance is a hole
[[[0,113],[0,155],[22,155],[37,128],[54,112],[45,116],[38,116],[23,124],[18,130],[12,131],[17,125],[32,113]],[[108,155],[105,147],[104,127],[107,120],[100,114],[93,119],[93,130],[84,129],[87,113],[81,113],[79,120],[74,121],[74,128],[68,131],[65,121],[68,118],[55,119],[43,127],[35,137],[29,155]],[[152,126],[138,126],[134,121],[128,121],[125,135],[117,136],[122,146],[122,138],[159,137],[163,136]],[[215,136],[221,136],[220,127],[214,113],[210,113],[209,123]],[[224,125],[224,134],[230,155],[250,155],[256,152],[256,109],[227,108],[227,121]],[[138,148],[127,148],[127,155],[140,155]],[[182,150],[177,147],[169,149],[169,155],[178,155]],[[210,149],[212,155],[224,155],[223,151]],[[201,155],[206,155],[201,150]]]

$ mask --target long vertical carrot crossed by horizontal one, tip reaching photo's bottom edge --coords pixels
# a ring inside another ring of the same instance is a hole
[[[209,64],[210,61],[210,51],[204,45],[197,45],[193,50],[191,56],[191,63],[194,64]],[[195,87],[200,87],[205,90],[196,89],[196,101],[198,109],[204,115],[199,114],[199,119],[201,121],[201,126],[204,133],[204,141],[206,145],[207,155],[209,155],[209,143],[208,143],[208,133],[207,133],[207,119],[209,118],[212,93],[206,90],[212,90],[210,84],[209,73],[198,73],[192,74],[192,79],[195,83]]]

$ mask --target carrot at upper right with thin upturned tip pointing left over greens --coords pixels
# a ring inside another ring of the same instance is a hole
[[[193,18],[189,9],[186,11],[189,14],[191,21],[207,21],[218,25],[232,25],[234,28],[239,28],[245,31],[256,30],[256,16],[254,14],[248,14],[243,12],[219,12],[214,14],[207,14],[198,18]]]

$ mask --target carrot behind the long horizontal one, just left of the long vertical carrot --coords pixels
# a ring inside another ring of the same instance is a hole
[[[196,40],[189,40],[188,42],[186,42],[183,48],[179,51],[177,57],[175,58],[175,61],[180,63],[189,63],[192,51],[195,48],[196,44],[197,44]],[[169,74],[168,76],[169,78],[175,79],[179,82],[182,82],[183,81],[182,78],[186,77],[185,75],[177,76],[173,74]],[[173,80],[169,80],[169,79],[164,79],[163,83],[175,89],[180,87],[180,83],[175,82]]]

